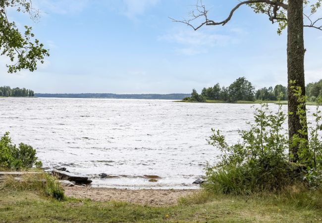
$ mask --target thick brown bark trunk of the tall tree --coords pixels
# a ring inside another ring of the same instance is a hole
[[[287,78],[288,78],[288,130],[291,139],[302,128],[297,111],[297,98],[290,89],[290,80],[296,81],[296,86],[302,88],[305,95],[304,81],[304,37],[303,37],[303,0],[288,0],[287,9]],[[306,137],[301,135],[301,137]],[[298,147],[289,148],[293,154],[292,162],[298,161]]]

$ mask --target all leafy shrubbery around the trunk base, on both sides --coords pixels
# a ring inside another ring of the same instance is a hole
[[[301,89],[292,88],[298,97],[297,115],[301,119],[302,129],[292,139],[288,131],[282,128],[286,115],[281,111],[273,113],[268,104],[261,104],[255,109],[255,124],[250,130],[239,131],[241,142],[228,145],[219,130],[213,130],[209,144],[219,148],[223,155],[215,166],[206,168],[206,189],[221,193],[250,194],[263,191],[281,191],[298,181],[309,185],[311,189],[322,186],[322,142],[319,131],[322,130],[322,116],[319,106],[313,116],[315,126],[309,127],[306,121],[305,96]],[[303,134],[309,129],[310,138]],[[301,136],[302,134],[302,136]],[[292,154],[289,146],[298,146],[297,163],[291,163]]]

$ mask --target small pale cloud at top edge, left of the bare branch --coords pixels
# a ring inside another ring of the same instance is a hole
[[[130,19],[136,19],[149,8],[155,6],[160,0],[123,0],[125,9],[122,14]]]

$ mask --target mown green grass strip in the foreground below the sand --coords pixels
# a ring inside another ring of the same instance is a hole
[[[12,185],[12,184],[10,184]],[[41,190],[1,187],[1,222],[321,222],[322,200],[298,194],[233,196],[200,190],[170,207],[126,202],[57,201]],[[304,202],[299,202],[304,200]]]

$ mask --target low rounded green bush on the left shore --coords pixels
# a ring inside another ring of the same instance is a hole
[[[35,164],[41,167],[41,161],[36,161],[36,150],[31,146],[20,143],[17,147],[12,144],[8,132],[0,138],[0,167],[22,169],[31,168]]]

